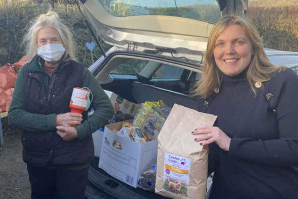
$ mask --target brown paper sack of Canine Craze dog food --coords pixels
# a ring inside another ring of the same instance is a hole
[[[174,104],[158,135],[155,192],[169,198],[204,199],[208,146],[200,146],[194,129],[213,125],[217,116]]]

